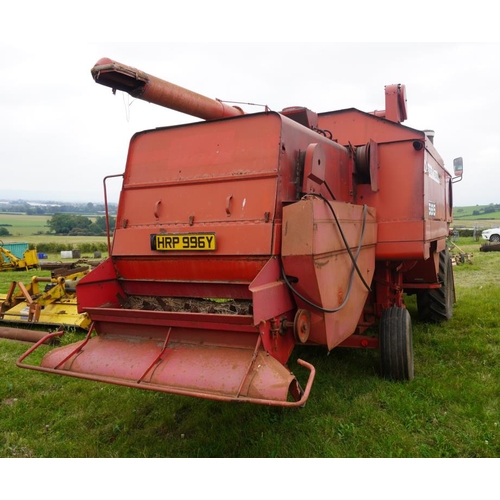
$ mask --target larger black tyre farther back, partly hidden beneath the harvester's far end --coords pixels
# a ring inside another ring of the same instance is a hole
[[[447,248],[439,254],[438,282],[441,288],[430,288],[417,294],[418,316],[422,321],[439,323],[453,316],[455,284],[453,264]]]

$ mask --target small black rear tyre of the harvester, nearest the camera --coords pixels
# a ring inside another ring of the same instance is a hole
[[[390,307],[380,320],[380,370],[389,380],[413,380],[413,332],[410,313]]]

